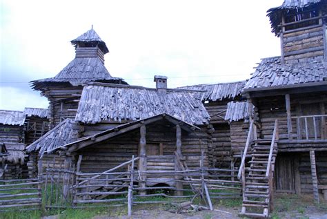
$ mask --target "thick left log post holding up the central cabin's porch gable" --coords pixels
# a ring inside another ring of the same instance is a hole
[[[139,182],[139,188],[146,187],[146,173],[144,171],[147,170],[147,162],[146,162],[146,125],[142,125],[139,129],[140,138],[139,138],[139,171],[141,171],[141,179]],[[140,190],[139,194],[146,195],[145,190]]]

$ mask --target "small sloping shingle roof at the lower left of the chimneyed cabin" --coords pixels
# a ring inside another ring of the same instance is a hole
[[[40,155],[78,139],[79,124],[74,120],[64,120],[26,147],[27,152],[39,151]]]

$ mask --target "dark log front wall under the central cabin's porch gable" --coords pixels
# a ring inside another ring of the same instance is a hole
[[[153,124],[146,126],[146,143],[148,146],[156,146],[159,150],[159,144],[164,146],[163,155],[174,155],[176,151],[176,129],[170,124]],[[186,157],[186,163],[189,168],[199,166],[201,150],[207,154],[208,136],[202,131],[197,134],[188,134],[182,131],[181,151]],[[101,144],[88,146],[81,149],[78,153],[83,155],[81,162],[81,171],[83,172],[101,172],[115,167],[132,158],[132,155],[138,155],[139,129],[112,138]],[[208,157],[205,157],[208,165]]]

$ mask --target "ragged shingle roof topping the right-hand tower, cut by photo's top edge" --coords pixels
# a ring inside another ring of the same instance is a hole
[[[275,35],[279,34],[280,24],[281,24],[281,15],[284,11],[288,10],[297,10],[300,11],[308,7],[317,7],[321,8],[322,6],[326,7],[326,0],[284,0],[283,4],[276,8],[270,8],[267,11],[267,17],[270,19],[271,29]]]

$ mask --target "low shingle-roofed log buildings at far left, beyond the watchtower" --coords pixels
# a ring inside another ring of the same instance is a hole
[[[1,158],[8,164],[5,178],[27,177],[29,158],[24,152],[26,144],[39,139],[48,131],[48,110],[25,108],[24,111],[0,111],[0,143],[4,144],[9,155]]]

